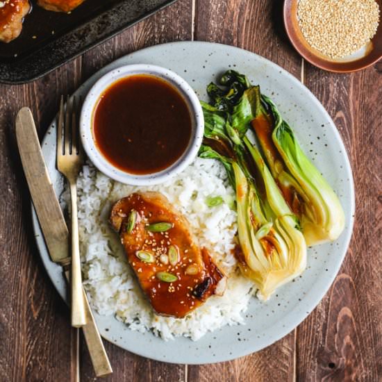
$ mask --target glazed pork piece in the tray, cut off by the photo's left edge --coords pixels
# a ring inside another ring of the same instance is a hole
[[[0,41],[10,42],[19,36],[30,9],[28,0],[0,0]]]

